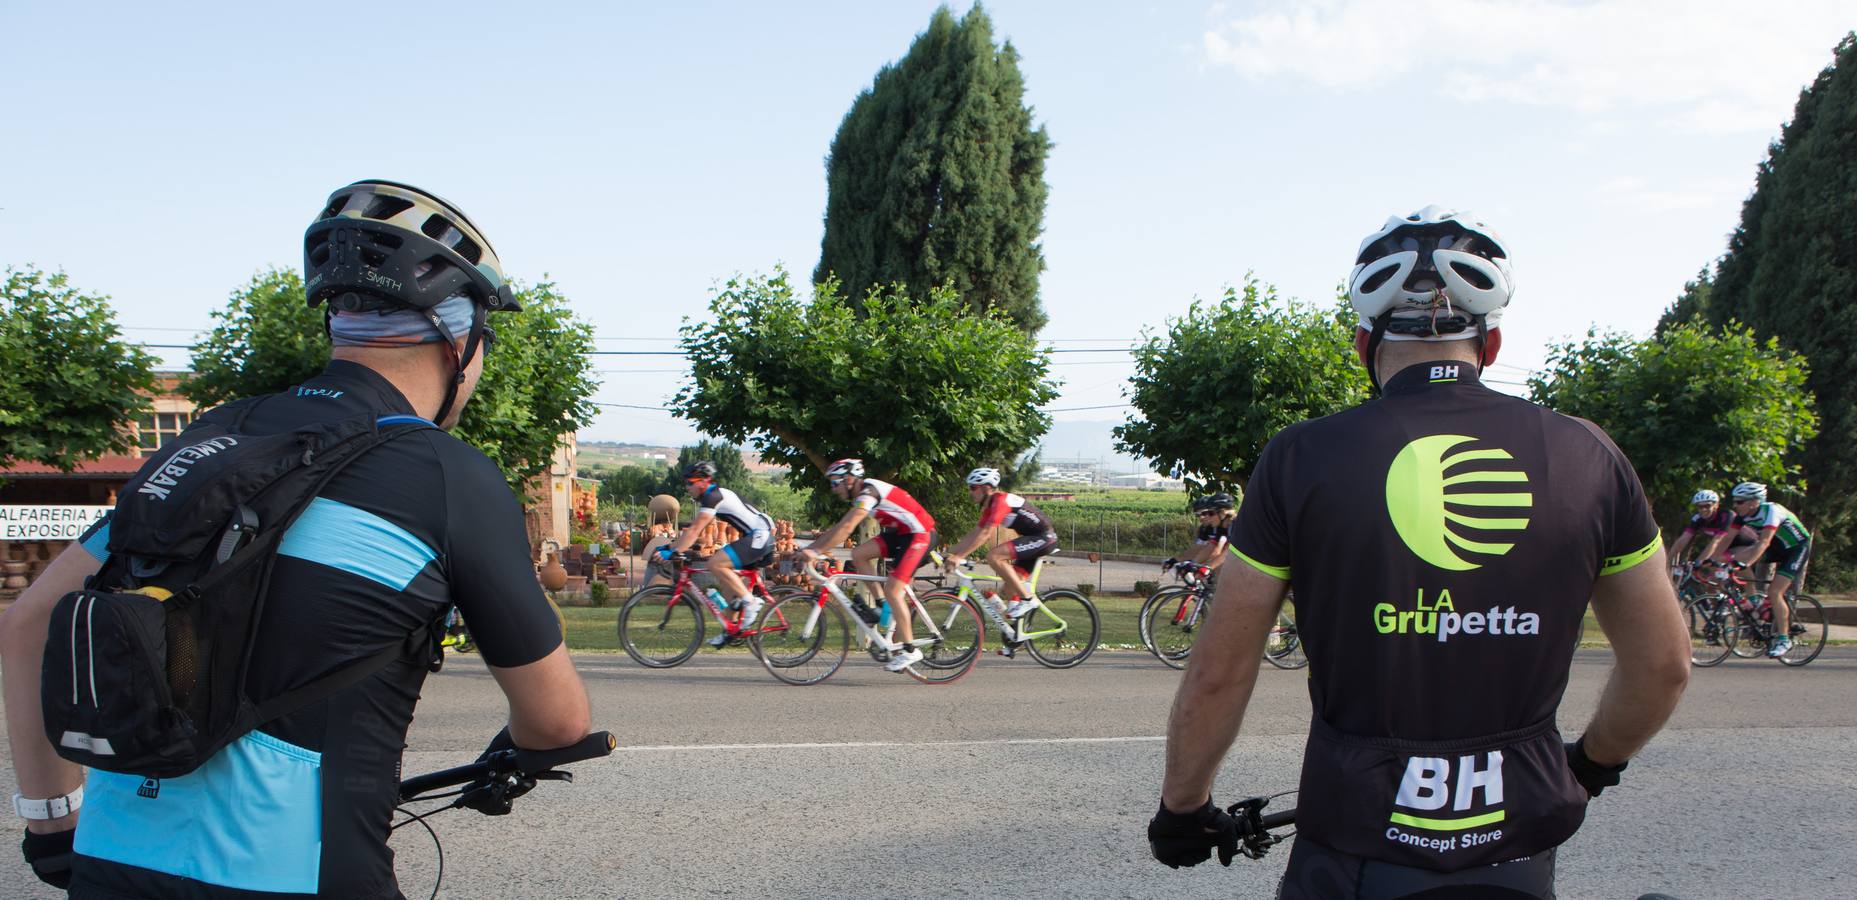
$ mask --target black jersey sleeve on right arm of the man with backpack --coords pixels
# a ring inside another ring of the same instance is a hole
[[[481,453],[462,444],[455,449],[446,455],[451,601],[485,662],[526,666],[561,646],[561,624],[535,579],[522,505],[503,473]]]

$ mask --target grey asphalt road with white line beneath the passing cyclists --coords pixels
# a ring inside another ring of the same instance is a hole
[[[1175,872],[1148,857],[1179,674],[1146,655],[1070,672],[986,659],[949,687],[867,657],[817,687],[780,685],[741,655],[669,672],[624,655],[578,664],[620,752],[511,816],[435,816],[440,896],[1248,898],[1270,896],[1285,863]],[[1569,733],[1608,664],[1604,649],[1575,659]],[[1671,727],[1562,848],[1562,896],[1851,896],[1853,694],[1857,648],[1799,670],[1697,670]],[[501,716],[475,657],[453,657],[425,687],[407,772],[474,759]],[[1294,787],[1307,716],[1304,674],[1263,668],[1218,796]],[[394,846],[403,891],[427,896],[431,839],[414,826]],[[0,867],[0,896],[32,885],[22,863]]]

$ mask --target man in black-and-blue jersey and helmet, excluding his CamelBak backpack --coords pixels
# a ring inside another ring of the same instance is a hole
[[[305,256],[308,301],[332,308],[329,367],[202,421],[240,416],[253,434],[362,416],[453,427],[483,371],[487,312],[516,310],[470,219],[414,187],[357,182],[310,225]],[[277,696],[386,648],[405,655],[186,776],[85,776],[46,742],[39,666],[54,603],[98,572],[108,531],[95,525],[0,618],[19,789],[69,809],[28,815],[24,854],[71,896],[399,898],[386,835],[431,657],[412,636],[453,605],[509,698],[494,748],[587,735],[587,692],[535,579],[522,507],[483,453],[427,429],[344,468],[284,533],[247,685]]]

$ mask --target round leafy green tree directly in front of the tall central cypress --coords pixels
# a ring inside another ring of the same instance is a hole
[[[1057,395],[1029,334],[971,315],[949,289],[849,301],[826,282],[808,302],[776,271],[730,280],[680,334],[691,380],[676,414],[786,466],[813,512],[836,505],[825,468],[839,456],[864,458],[936,518],[971,505],[967,469],[1031,447],[1049,427],[1038,406]]]

